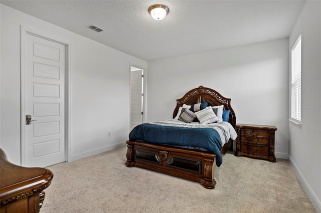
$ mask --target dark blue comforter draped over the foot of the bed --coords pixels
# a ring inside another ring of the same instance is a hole
[[[222,164],[222,142],[219,133],[212,128],[187,128],[143,123],[129,133],[129,140],[142,140],[180,146],[196,146],[216,154],[216,165]]]

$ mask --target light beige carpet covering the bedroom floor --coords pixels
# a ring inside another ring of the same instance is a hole
[[[126,147],[49,166],[40,212],[316,212],[286,159],[275,163],[228,152],[214,189],[126,167]]]

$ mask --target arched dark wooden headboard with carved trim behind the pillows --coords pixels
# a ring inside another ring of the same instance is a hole
[[[183,104],[192,105],[194,103],[208,102],[208,105],[224,105],[225,110],[230,110],[229,122],[232,126],[236,124],[235,112],[231,106],[231,98],[222,96],[219,92],[214,89],[199,86],[198,88],[191,89],[182,98],[176,100],[177,105],[175,107],[173,118],[176,117],[180,106]]]

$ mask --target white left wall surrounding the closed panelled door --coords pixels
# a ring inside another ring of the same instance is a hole
[[[0,146],[9,160],[16,164],[21,161],[21,25],[71,44],[69,160],[124,144],[129,132],[130,64],[146,68],[147,62],[6,5],[0,6]]]

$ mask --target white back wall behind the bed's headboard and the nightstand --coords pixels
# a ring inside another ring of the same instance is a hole
[[[149,121],[172,118],[176,99],[203,85],[232,99],[237,123],[275,125],[287,158],[288,39],[149,61],[148,82]]]

